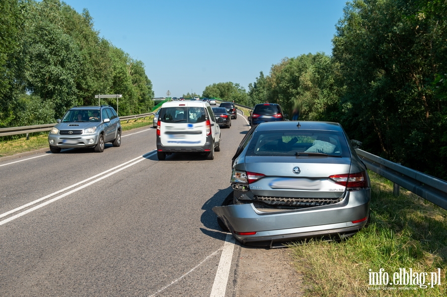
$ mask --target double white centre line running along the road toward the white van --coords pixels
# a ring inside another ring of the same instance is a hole
[[[42,200],[48,199],[48,198],[51,197],[51,196],[54,196],[54,195],[59,194],[59,193],[61,193],[61,192],[64,192],[64,191],[66,191],[66,190],[68,190],[68,189],[70,189],[70,188],[73,188],[73,187],[75,187],[75,186],[77,186],[77,185],[79,185],[79,184],[81,184],[81,183],[84,183],[84,182],[86,182],[86,181],[88,181],[88,180],[90,180],[90,179],[97,178],[97,177],[99,177],[99,176],[101,176],[101,175],[104,175],[104,174],[106,174],[106,173],[108,173],[108,172],[110,172],[110,171],[112,171],[112,170],[115,170],[115,169],[117,169],[117,168],[119,168],[119,167],[121,167],[121,166],[123,166],[123,165],[126,165],[126,164],[128,164],[128,163],[131,163],[131,162],[133,162],[133,161],[135,161],[135,160],[140,159],[140,160],[138,160],[138,161],[136,161],[136,162],[134,162],[134,163],[132,163],[132,164],[129,164],[129,165],[125,166],[125,167],[122,167],[122,168],[118,169],[118,170],[115,171],[115,172],[109,173],[109,174],[106,175],[106,176],[103,176],[103,177],[98,178],[98,179],[96,179],[96,180],[90,181],[89,183],[86,183],[86,184],[84,184],[84,185],[82,185],[82,186],[80,186],[80,187],[78,187],[78,188],[76,188],[76,189],[73,189],[73,190],[71,190],[71,191],[69,191],[69,192],[67,192],[67,193],[65,193],[65,194],[62,194],[62,195],[60,195],[60,196],[58,196],[58,197],[56,197],[56,198],[53,198],[53,199],[51,199],[51,200],[49,200],[49,201],[47,201],[47,202],[44,202],[44,203],[42,203],[42,204],[39,204],[39,205],[37,205],[37,206],[35,206],[35,207],[33,207],[33,208],[30,208],[30,209],[28,209],[28,210],[26,210],[26,211],[24,211],[24,212],[18,213],[18,214],[14,215],[14,216],[12,216],[12,217],[6,219],[6,220],[0,221],[0,225],[3,225],[3,224],[5,224],[5,223],[7,223],[7,222],[10,222],[10,221],[12,221],[12,220],[14,220],[14,219],[16,219],[16,218],[18,218],[18,217],[21,217],[21,216],[23,216],[23,215],[25,215],[25,214],[27,214],[27,213],[30,213],[31,211],[34,211],[34,210],[36,210],[36,209],[38,209],[38,208],[41,208],[41,207],[43,207],[43,206],[45,206],[45,205],[47,205],[47,204],[50,204],[50,203],[54,202],[54,201],[56,201],[56,200],[59,200],[59,199],[65,197],[65,196],[67,196],[67,195],[70,195],[70,194],[72,194],[72,193],[74,193],[74,192],[76,192],[76,191],[78,191],[78,190],[80,190],[80,189],[83,189],[84,187],[87,187],[87,186],[89,186],[89,185],[91,185],[91,184],[93,184],[93,183],[95,183],[95,182],[97,182],[97,181],[99,181],[99,180],[102,180],[102,179],[104,179],[104,178],[108,178],[108,177],[110,177],[111,175],[114,175],[115,173],[122,171],[123,169],[126,169],[126,168],[128,168],[128,167],[130,167],[130,166],[133,166],[133,165],[135,165],[135,164],[137,164],[137,163],[143,161],[143,160],[145,159],[145,156],[148,156],[148,157],[149,157],[149,156],[152,155],[153,153],[154,153],[154,151],[152,151],[152,152],[150,152],[150,153],[148,153],[148,154],[145,154],[145,155],[143,155],[143,156],[137,157],[137,158],[135,158],[135,159],[132,159],[132,160],[130,160],[130,161],[127,161],[127,162],[125,162],[125,163],[123,163],[123,164],[121,164],[121,165],[115,166],[114,168],[109,169],[109,170],[106,170],[106,171],[104,171],[104,172],[102,172],[102,173],[100,173],[100,174],[97,174],[97,175],[95,175],[95,176],[93,176],[93,177],[91,177],[91,178],[87,178],[87,179],[84,179],[84,180],[82,180],[82,181],[79,181],[79,182],[77,182],[77,183],[75,183],[75,184],[73,184],[73,185],[71,185],[71,186],[68,186],[68,187],[66,187],[66,188],[64,188],[64,189],[62,189],[62,190],[59,190],[59,191],[54,192],[54,193],[52,193],[52,194],[49,194],[49,195],[47,195],[47,196],[45,196],[45,197],[39,198],[39,199],[34,200],[34,201],[30,202],[30,203],[27,203],[27,204],[25,204],[25,205],[22,205],[22,206],[20,206],[20,207],[17,207],[17,208],[15,208],[15,209],[13,209],[13,210],[10,210],[10,211],[8,211],[8,212],[5,212],[5,213],[3,213],[3,214],[0,215],[0,218],[2,218],[2,217],[4,217],[4,216],[7,216],[7,215],[9,215],[9,214],[11,214],[11,213],[17,212],[17,211],[19,211],[19,210],[21,210],[21,209],[23,209],[23,208],[26,208],[26,207],[28,207],[28,206],[31,206],[31,205],[33,205],[33,204],[36,204],[36,203],[38,203],[38,202],[40,202],[40,201],[42,201]]]

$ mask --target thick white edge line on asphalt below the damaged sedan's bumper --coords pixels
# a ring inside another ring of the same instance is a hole
[[[226,234],[224,250],[222,251],[221,260],[219,261],[216,278],[214,279],[213,289],[211,289],[210,297],[224,297],[228,275],[231,268],[231,259],[233,258],[234,237],[231,233]]]

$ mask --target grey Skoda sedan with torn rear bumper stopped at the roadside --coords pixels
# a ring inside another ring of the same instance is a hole
[[[231,187],[232,199],[213,211],[243,244],[343,238],[369,217],[370,178],[338,123],[278,121],[251,128],[233,157]]]

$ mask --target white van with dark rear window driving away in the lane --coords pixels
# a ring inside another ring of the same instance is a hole
[[[177,152],[204,152],[208,160],[221,150],[221,128],[203,101],[166,102],[157,121],[157,157]]]

